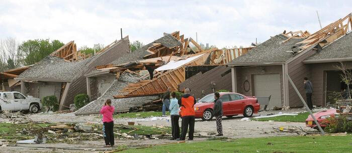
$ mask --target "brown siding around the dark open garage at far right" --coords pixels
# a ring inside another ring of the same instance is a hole
[[[352,66],[352,61],[343,62],[346,64],[346,67]],[[334,65],[337,62],[328,62],[328,63],[313,63],[307,64],[311,67],[311,81],[313,83],[313,104],[314,105],[325,105],[325,78],[324,71],[326,70],[337,70]]]

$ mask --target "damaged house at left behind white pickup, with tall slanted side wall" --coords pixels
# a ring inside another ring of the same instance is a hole
[[[75,95],[86,93],[84,74],[128,52],[128,36],[114,41],[94,55],[77,51],[74,41],[70,41],[15,79],[20,81],[21,92],[25,95],[39,98],[55,95],[60,102],[59,109],[66,109],[73,103]]]

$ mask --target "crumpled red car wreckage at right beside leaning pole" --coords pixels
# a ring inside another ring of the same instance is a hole
[[[313,115],[317,119],[321,127],[326,127],[326,125],[328,124],[326,118],[335,117],[335,113],[336,113],[336,109],[329,109],[329,110],[315,112],[313,113]],[[318,128],[314,122],[313,117],[310,115],[308,115],[308,118],[306,119],[306,126],[312,127],[312,128]]]

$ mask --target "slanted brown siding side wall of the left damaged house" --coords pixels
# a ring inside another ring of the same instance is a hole
[[[99,54],[95,59],[93,59],[90,63],[87,64],[86,70],[84,70],[79,77],[75,78],[68,89],[66,98],[64,100],[63,105],[69,106],[69,104],[73,103],[74,96],[79,93],[87,93],[86,88],[86,78],[84,74],[91,72],[96,69],[95,66],[109,64],[114,61],[116,58],[127,54],[129,51],[129,40],[128,37],[125,37],[114,46],[108,48],[101,54]]]

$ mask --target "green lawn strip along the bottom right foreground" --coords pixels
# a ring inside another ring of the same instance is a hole
[[[208,140],[127,149],[122,152],[350,152],[352,135],[277,136]]]

